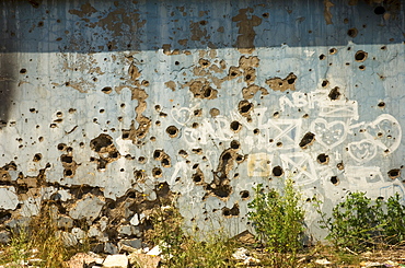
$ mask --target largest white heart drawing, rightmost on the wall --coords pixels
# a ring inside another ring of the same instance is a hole
[[[366,137],[374,140],[382,150],[389,149],[390,152],[393,152],[401,143],[402,129],[400,123],[392,115],[380,115],[367,125],[366,130],[363,132]]]

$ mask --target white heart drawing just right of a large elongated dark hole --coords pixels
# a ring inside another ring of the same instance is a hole
[[[311,130],[315,133],[315,139],[323,147],[332,149],[345,141],[347,127],[344,121],[328,123],[323,118],[316,118],[311,124]]]

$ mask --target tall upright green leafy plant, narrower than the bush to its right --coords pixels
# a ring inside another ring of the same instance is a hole
[[[262,184],[254,190],[248,219],[268,250],[273,267],[296,267],[297,253],[302,248],[304,211],[292,179],[286,179],[282,190],[265,193]]]

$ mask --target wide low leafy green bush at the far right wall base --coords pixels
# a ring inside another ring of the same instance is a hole
[[[384,202],[372,200],[366,193],[349,193],[344,201],[332,209],[332,217],[321,214],[321,228],[335,246],[362,252],[369,248],[398,244],[405,238],[405,206],[396,194]]]

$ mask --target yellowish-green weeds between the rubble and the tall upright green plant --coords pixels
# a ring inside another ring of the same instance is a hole
[[[223,230],[202,234],[194,228],[187,234],[183,218],[173,206],[159,207],[151,219],[153,229],[147,236],[160,246],[164,267],[232,267],[236,243]]]

